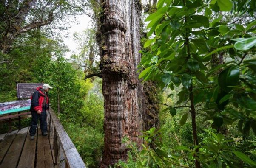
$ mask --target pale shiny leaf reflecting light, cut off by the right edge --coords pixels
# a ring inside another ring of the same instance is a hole
[[[245,38],[244,40],[240,40],[235,43],[234,47],[236,50],[250,50],[256,45],[256,37]]]

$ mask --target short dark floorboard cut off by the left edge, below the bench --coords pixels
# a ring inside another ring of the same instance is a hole
[[[6,155],[9,147],[11,146],[12,141],[16,137],[17,132],[18,132],[18,130],[7,133],[5,139],[2,140],[2,142],[0,143],[0,165],[3,161],[3,158]]]

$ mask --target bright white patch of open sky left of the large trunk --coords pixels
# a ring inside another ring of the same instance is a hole
[[[90,28],[90,26],[92,24],[91,18],[88,17],[85,14],[80,15],[80,16],[76,16],[76,20],[77,20],[76,23],[72,22],[71,27],[68,28],[68,30],[63,32],[63,34],[68,36],[68,37],[64,37],[63,39],[64,39],[64,42],[65,42],[65,45],[68,46],[68,48],[70,50],[69,52],[65,53],[66,58],[70,58],[72,53],[77,53],[78,52],[77,44],[73,39],[73,34],[75,32],[82,32],[86,28]]]

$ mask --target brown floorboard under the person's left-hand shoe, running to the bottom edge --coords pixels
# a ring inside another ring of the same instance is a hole
[[[35,134],[35,139],[30,140],[30,135],[27,135],[18,168],[34,168],[35,154],[37,145],[37,129]]]

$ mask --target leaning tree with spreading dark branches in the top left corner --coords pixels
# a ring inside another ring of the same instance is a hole
[[[85,6],[87,0],[0,0],[1,53],[8,53],[18,36],[54,20],[60,25],[72,14],[85,13]]]

